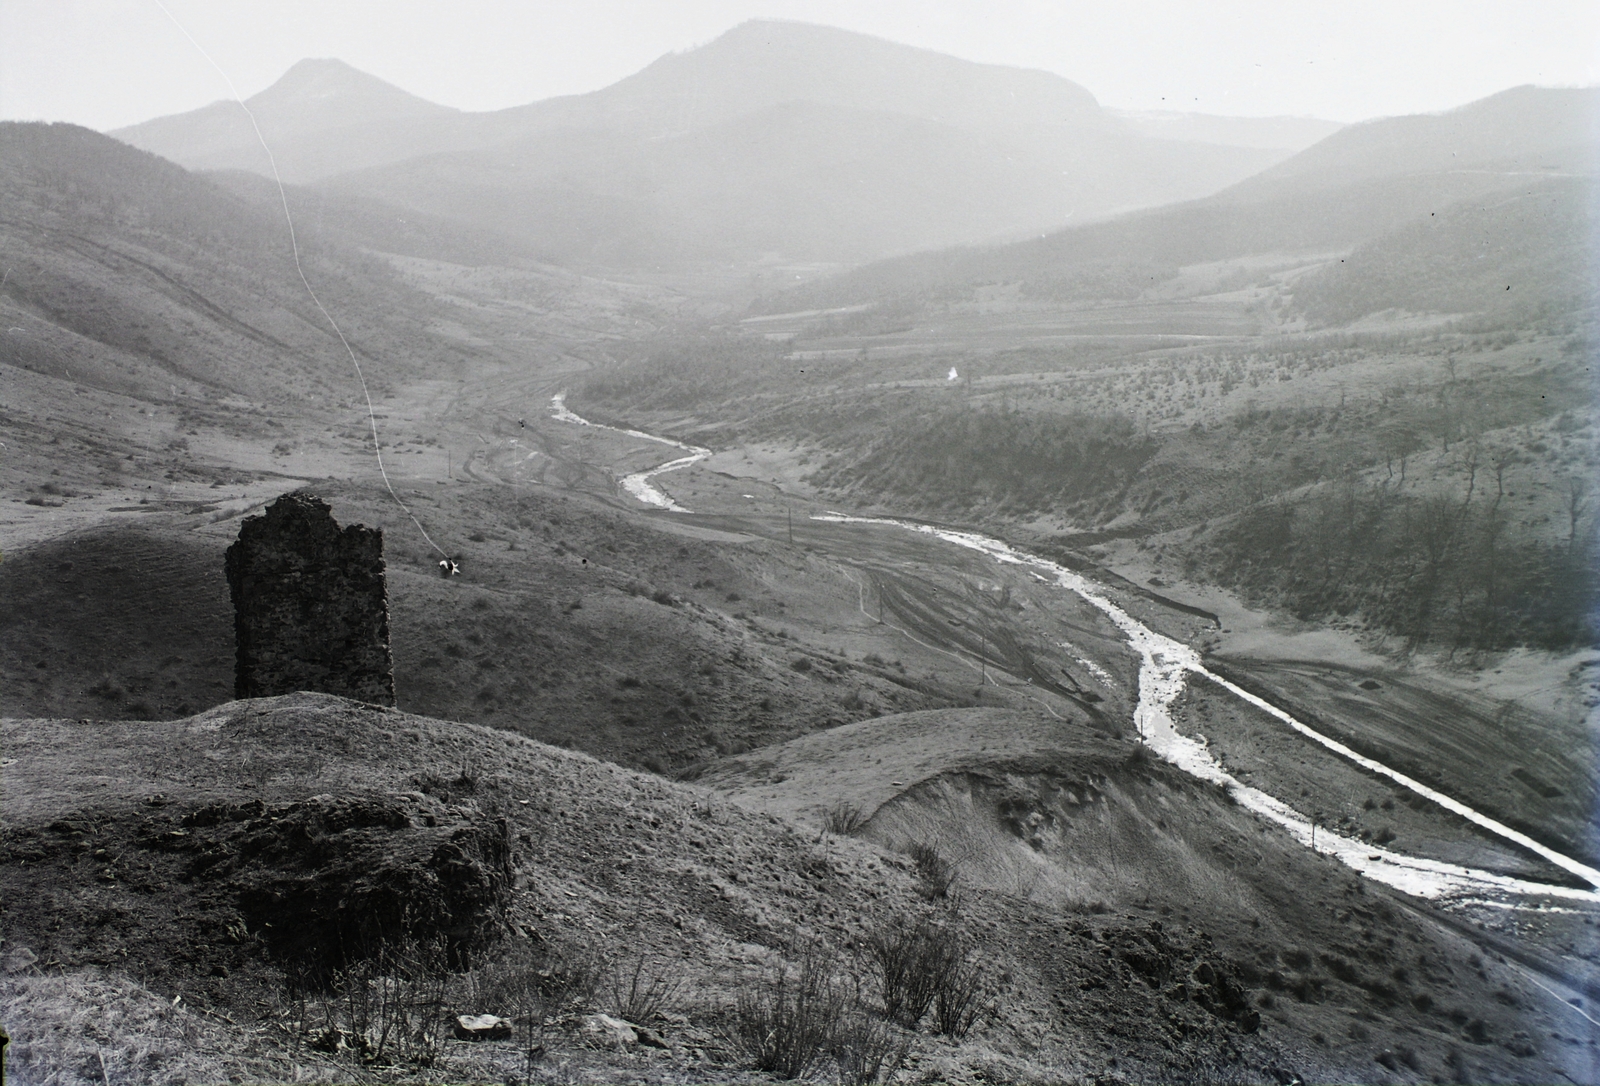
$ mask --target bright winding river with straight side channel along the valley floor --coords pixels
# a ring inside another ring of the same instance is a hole
[[[690,464],[696,464],[709,457],[710,449],[683,445],[682,441],[654,437],[640,430],[624,430],[619,427],[589,422],[566,408],[565,397],[566,393],[563,392],[550,400],[555,417],[563,422],[592,425],[635,438],[661,441],[688,451],[690,456],[669,461],[667,464],[646,472],[629,475],[622,480],[622,486],[627,493],[634,494],[645,504],[672,512],[690,512],[651,486],[650,478],[661,475],[662,472],[674,472],[688,467]],[[840,525],[878,525],[934,536],[957,547],[984,553],[997,563],[1027,568],[1040,581],[1054,584],[1062,590],[1078,595],[1085,603],[1110,619],[1110,622],[1117,625],[1123,635],[1126,635],[1128,648],[1139,656],[1139,701],[1134,707],[1134,725],[1138,726],[1142,741],[1155,753],[1190,776],[1226,787],[1240,806],[1245,806],[1261,817],[1283,827],[1306,848],[1314,848],[1318,852],[1333,856],[1341,864],[1366,878],[1394,886],[1395,889],[1418,897],[1478,902],[1510,908],[1552,908],[1560,907],[1562,902],[1600,905],[1600,870],[1581,864],[1570,856],[1563,856],[1562,852],[1534,841],[1528,835],[1474,811],[1467,805],[1453,800],[1451,797],[1443,795],[1435,789],[1405,776],[1403,773],[1390,769],[1381,761],[1366,758],[1350,750],[1336,739],[1331,739],[1296,720],[1269,701],[1258,697],[1256,694],[1251,694],[1250,691],[1242,689],[1226,678],[1206,670],[1200,654],[1194,648],[1149,629],[1117,606],[1106,595],[1106,589],[1102,585],[1067,569],[1066,566],[1050,561],[1048,558],[1040,558],[1038,555],[1030,555],[1026,550],[1018,550],[1000,539],[990,539],[989,536],[970,531],[955,531],[949,528],[936,528],[933,525],[920,525],[882,517],[848,517],[845,513],[824,513],[813,517],[813,520]],[[1512,878],[1509,875],[1496,875],[1494,872],[1485,872],[1459,864],[1405,856],[1403,852],[1384,849],[1355,838],[1341,836],[1326,827],[1314,827],[1307,816],[1301,814],[1277,797],[1242,784],[1229,774],[1227,769],[1224,769],[1222,765],[1211,757],[1203,737],[1192,739],[1178,731],[1171,717],[1171,704],[1179,694],[1182,694],[1187,683],[1194,678],[1216,683],[1235,697],[1240,697],[1270,713],[1312,742],[1322,744],[1333,753],[1354,761],[1363,769],[1387,777],[1397,785],[1410,789],[1416,795],[1430,800],[1440,808],[1467,819],[1478,828],[1539,856],[1549,864],[1574,875],[1578,880],[1589,883],[1589,888],[1554,886],[1549,883]]]

